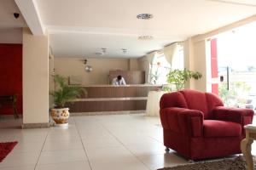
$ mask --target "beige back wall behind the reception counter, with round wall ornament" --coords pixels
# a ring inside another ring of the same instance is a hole
[[[87,59],[91,72],[84,71],[84,59],[55,57],[55,74],[79,77],[82,84],[107,84],[110,70],[128,71],[129,59]]]

